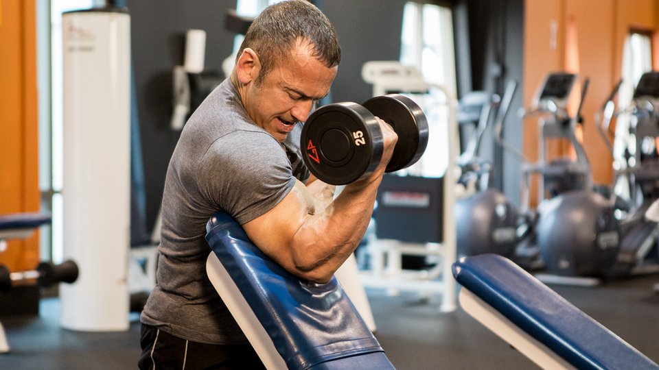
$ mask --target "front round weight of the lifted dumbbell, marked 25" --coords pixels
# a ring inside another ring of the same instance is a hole
[[[382,158],[382,131],[373,114],[357,103],[317,109],[302,129],[303,160],[319,180],[349,184],[371,173]]]

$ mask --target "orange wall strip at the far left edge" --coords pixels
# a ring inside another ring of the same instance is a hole
[[[34,3],[0,0],[0,214],[39,210]],[[38,250],[38,236],[10,241],[0,264],[34,269]]]

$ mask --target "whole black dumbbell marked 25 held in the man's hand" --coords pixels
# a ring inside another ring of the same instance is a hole
[[[398,135],[386,172],[411,166],[428,145],[428,121],[412,99],[390,94],[373,97],[362,105],[333,103],[313,112],[301,134],[303,160],[319,180],[332,185],[350,184],[378,167],[384,151],[380,124],[389,123]]]

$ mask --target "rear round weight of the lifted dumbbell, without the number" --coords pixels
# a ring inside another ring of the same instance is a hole
[[[362,104],[374,116],[389,123],[398,135],[386,172],[415,164],[428,145],[426,114],[412,99],[398,94],[373,97]]]

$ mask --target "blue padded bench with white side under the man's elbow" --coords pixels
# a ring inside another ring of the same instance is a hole
[[[268,369],[393,369],[336,277],[288,273],[229,214],[214,214],[206,231],[209,280]]]

